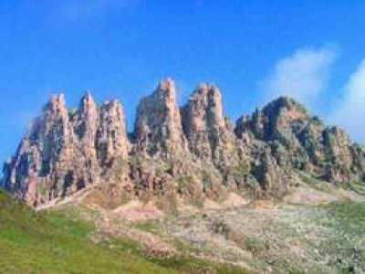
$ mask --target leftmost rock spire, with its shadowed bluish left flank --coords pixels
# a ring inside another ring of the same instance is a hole
[[[20,142],[16,156],[5,163],[5,189],[20,192],[35,204],[58,195],[63,191],[57,188],[59,177],[72,163],[72,142],[64,96],[52,96]],[[37,191],[32,191],[35,195],[29,197],[30,193],[24,192],[31,176],[39,177],[39,182]]]

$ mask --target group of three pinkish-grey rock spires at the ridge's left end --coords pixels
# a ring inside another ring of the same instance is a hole
[[[89,92],[77,111],[52,96],[30,127],[16,155],[4,166],[5,189],[32,205],[98,184],[102,167],[127,158],[124,114],[117,101],[98,110]]]

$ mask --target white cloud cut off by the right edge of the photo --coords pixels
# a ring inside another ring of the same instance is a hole
[[[365,59],[349,77],[329,121],[343,127],[354,141],[365,142]]]

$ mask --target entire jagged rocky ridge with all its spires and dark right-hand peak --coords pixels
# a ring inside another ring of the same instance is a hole
[[[97,106],[87,92],[71,110],[62,94],[52,96],[4,164],[1,184],[34,206],[95,184],[113,185],[123,199],[275,198],[295,187],[297,171],[361,184],[365,153],[295,100],[273,100],[233,126],[214,84],[200,84],[179,108],[164,79],[141,100],[130,133],[118,100]]]

